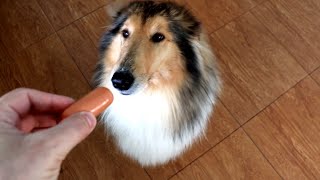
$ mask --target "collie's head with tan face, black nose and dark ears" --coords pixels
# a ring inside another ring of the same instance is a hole
[[[191,41],[198,38],[199,29],[182,7],[130,3],[116,14],[103,37],[98,72],[106,79],[95,79],[109,81],[122,95],[164,88],[176,91],[188,78],[198,76]]]

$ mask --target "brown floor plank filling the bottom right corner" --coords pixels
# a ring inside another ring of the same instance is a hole
[[[284,179],[320,177],[320,87],[307,77],[245,130]]]

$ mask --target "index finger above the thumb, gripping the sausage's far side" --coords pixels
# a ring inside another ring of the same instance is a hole
[[[31,107],[38,112],[62,112],[73,102],[74,100],[69,97],[19,88],[2,96],[0,107],[8,106],[22,117],[30,111]]]

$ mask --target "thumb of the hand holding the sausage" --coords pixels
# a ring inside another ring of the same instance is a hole
[[[50,150],[59,158],[64,159],[67,154],[82,140],[84,140],[96,126],[97,120],[92,113],[76,113],[64,119],[57,126],[42,131],[41,136],[47,137]]]

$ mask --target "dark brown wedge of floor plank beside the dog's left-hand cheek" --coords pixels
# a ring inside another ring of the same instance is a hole
[[[103,7],[58,32],[88,82],[92,81],[98,62],[100,38],[109,23],[111,22],[106,14],[106,7]]]

